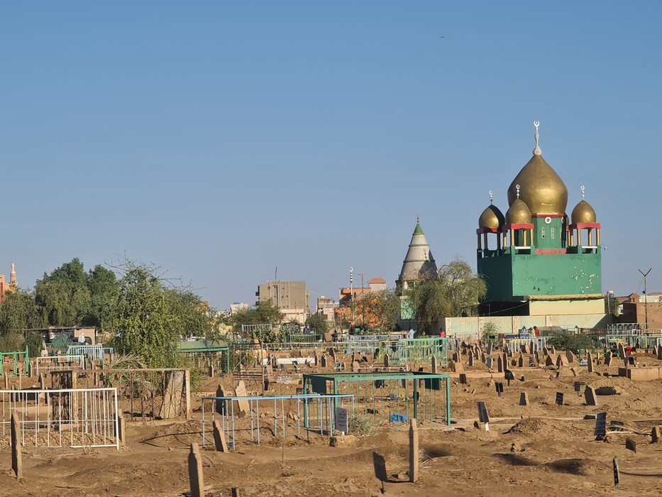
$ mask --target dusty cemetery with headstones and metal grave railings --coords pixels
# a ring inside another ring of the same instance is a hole
[[[615,495],[615,466],[660,491],[656,341],[321,339],[180,369],[6,354],[0,495]]]

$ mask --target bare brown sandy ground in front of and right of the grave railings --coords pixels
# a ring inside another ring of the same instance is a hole
[[[656,364],[639,354],[639,365]],[[393,428],[371,437],[329,446],[329,437],[310,441],[274,439],[263,444],[249,437],[236,452],[202,449],[206,496],[379,496],[373,452],[386,459],[392,496],[658,496],[662,494],[662,443],[652,443],[651,428],[662,425],[662,381],[634,382],[614,375],[617,368],[597,366],[595,373],[575,366],[556,378],[556,368],[514,369],[515,381],[504,382],[497,397],[494,382],[480,364],[467,368],[470,378],[453,378],[451,427],[421,427],[420,478],[408,479],[408,430]],[[582,371],[583,370],[583,371]],[[482,374],[472,377],[471,373]],[[525,381],[519,377],[524,375]],[[457,375],[455,375],[457,376]],[[497,381],[501,375],[494,374]],[[587,406],[573,390],[574,381],[595,388],[615,388]],[[206,389],[217,380],[209,379]],[[519,405],[520,392],[529,395]],[[556,392],[564,404],[555,405]],[[490,431],[476,428],[476,402],[490,412]],[[199,400],[197,401],[199,406]],[[621,421],[626,433],[596,441],[595,420],[585,415],[607,412],[607,422]],[[199,420],[200,413],[196,413]],[[636,453],[625,448],[630,437]],[[202,443],[202,423],[127,423],[127,444],[115,449],[23,449],[23,479],[11,473],[6,442],[0,447],[0,496],[181,496],[189,491],[187,455],[192,442]],[[621,483],[614,488],[612,459],[618,457]]]

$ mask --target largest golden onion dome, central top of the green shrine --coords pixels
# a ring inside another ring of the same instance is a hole
[[[542,155],[534,155],[512,180],[508,187],[508,203],[511,206],[517,198],[516,185],[522,187],[519,197],[531,214],[562,216],[566,212],[568,188]]]

